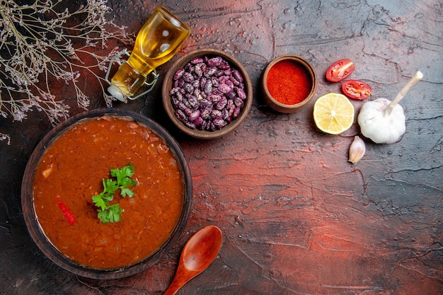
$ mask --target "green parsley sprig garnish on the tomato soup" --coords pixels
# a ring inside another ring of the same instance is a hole
[[[120,189],[122,197],[132,197],[134,192],[128,186],[135,186],[136,182],[132,180],[134,175],[134,166],[131,163],[118,169],[111,169],[110,175],[114,179],[103,179],[103,192],[92,197],[92,202],[96,204],[98,219],[103,223],[120,221],[120,214],[124,211],[120,209],[120,204],[109,203],[114,199],[115,192]]]

